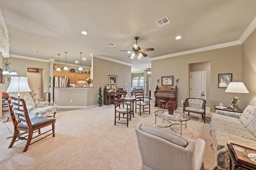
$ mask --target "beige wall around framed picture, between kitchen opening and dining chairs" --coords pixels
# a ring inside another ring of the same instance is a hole
[[[92,60],[94,89],[88,91],[88,106],[97,104],[98,89],[100,86],[102,87],[103,95],[105,85],[108,84],[109,75],[117,76],[117,84],[118,86],[122,86],[124,90],[126,90],[127,87],[131,87],[131,66],[115,63],[97,57],[93,57]]]

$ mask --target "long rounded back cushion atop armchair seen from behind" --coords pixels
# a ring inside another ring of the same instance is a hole
[[[187,139],[185,139],[180,135],[176,135],[174,133],[168,132],[166,130],[163,130],[157,127],[147,126],[147,125],[142,125],[140,129],[144,132],[166,139],[167,141],[170,141],[171,143],[174,143],[176,145],[179,145],[182,147],[186,147],[188,145]]]

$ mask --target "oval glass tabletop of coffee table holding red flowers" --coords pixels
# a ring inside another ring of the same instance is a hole
[[[155,111],[155,115],[170,121],[188,121],[190,120],[190,116],[186,115],[180,111],[174,111],[173,115],[170,115],[168,113],[167,109],[161,109],[161,110],[157,110]]]

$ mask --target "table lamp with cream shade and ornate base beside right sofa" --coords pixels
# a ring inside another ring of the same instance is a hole
[[[234,101],[234,108],[233,108],[233,110],[234,111],[238,111],[239,110],[239,108],[238,108],[239,98],[237,96],[237,93],[249,93],[247,88],[244,86],[243,82],[230,82],[228,84],[228,87],[227,87],[225,92],[235,93],[235,96],[233,98],[233,101]]]

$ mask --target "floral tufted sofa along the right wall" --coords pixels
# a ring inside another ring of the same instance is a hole
[[[215,152],[214,169],[230,168],[227,143],[256,149],[256,106],[247,106],[243,113],[216,109],[211,116],[210,126],[212,149]]]

